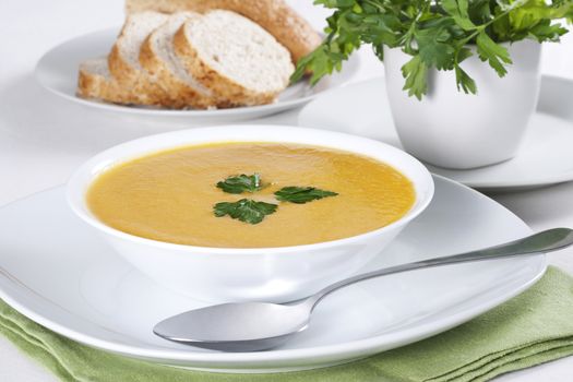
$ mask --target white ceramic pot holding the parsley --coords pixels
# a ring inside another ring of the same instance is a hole
[[[541,45],[524,40],[505,46],[513,64],[504,77],[474,55],[462,68],[476,81],[477,95],[458,92],[453,71],[431,70],[421,102],[403,91],[401,68],[411,57],[399,49],[384,50],[392,116],[408,153],[456,169],[493,165],[515,155],[537,105]]]

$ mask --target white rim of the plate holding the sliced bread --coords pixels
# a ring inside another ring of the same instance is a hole
[[[102,35],[102,36],[109,35],[109,34],[117,35],[120,28],[121,27],[109,27],[109,28],[103,28],[103,29],[98,29],[94,32],[88,32],[88,33],[84,33],[75,37],[64,39],[53,45],[52,47],[47,49],[37,60],[36,65],[34,67],[34,79],[43,88],[47,89],[49,93],[57,95],[61,98],[71,100],[73,103],[77,103],[80,105],[93,107],[95,109],[102,109],[102,110],[127,114],[127,115],[150,116],[150,117],[189,117],[189,118],[198,118],[198,119],[200,118],[215,119],[219,117],[224,118],[224,117],[229,117],[229,116],[249,116],[249,115],[259,115],[259,114],[270,115],[273,111],[279,112],[279,111],[288,110],[288,109],[291,109],[298,106],[306,105],[320,95],[326,94],[335,88],[345,86],[348,83],[350,83],[353,77],[355,77],[356,74],[358,73],[360,65],[361,65],[361,60],[360,60],[359,55],[353,55],[353,58],[350,58],[347,62],[347,68],[349,67],[349,69],[347,69],[346,72],[344,71],[344,69],[343,71],[338,72],[338,74],[341,75],[341,80],[342,80],[339,84],[336,84],[332,87],[326,87],[323,91],[320,91],[318,93],[310,94],[310,95],[307,95],[300,98],[289,99],[285,102],[276,102],[276,103],[267,104],[267,105],[242,106],[242,107],[236,107],[236,108],[215,109],[215,110],[208,110],[208,109],[182,110],[182,109],[162,109],[162,108],[146,109],[142,107],[123,106],[123,105],[116,105],[116,104],[106,103],[106,102],[89,100],[89,99],[77,97],[76,95],[70,95],[65,92],[61,92],[60,89],[50,86],[45,81],[43,74],[40,74],[43,70],[44,61],[47,60],[48,57],[55,50],[62,48],[63,46],[68,44],[76,43],[76,40],[81,40],[83,38],[89,38],[89,37],[94,37],[97,35]],[[111,44],[110,44],[110,47],[111,47]],[[74,73],[74,74],[77,74],[77,73]]]

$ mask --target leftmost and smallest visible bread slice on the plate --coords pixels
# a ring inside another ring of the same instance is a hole
[[[135,102],[134,97],[111,76],[105,57],[86,60],[80,64],[77,95],[82,98],[116,104],[129,105]]]

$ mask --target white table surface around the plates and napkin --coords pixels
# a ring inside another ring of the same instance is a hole
[[[311,0],[290,0],[317,27],[324,10]],[[93,154],[138,136],[165,131],[163,123],[100,114],[58,99],[34,80],[34,65],[52,46],[123,19],[120,0],[0,1],[0,205],[65,182]],[[354,81],[382,75],[368,49]],[[545,73],[573,77],[573,36],[545,47]],[[73,75],[73,74],[72,74]],[[571,95],[573,96],[573,95]],[[297,111],[265,121],[295,123]],[[573,142],[572,142],[573,143]],[[573,182],[544,189],[493,194],[533,229],[573,227]],[[568,259],[569,256],[569,259]],[[550,255],[550,262],[573,273],[573,251]],[[0,337],[0,381],[55,381],[55,377]],[[511,373],[503,382],[573,380],[573,357]]]

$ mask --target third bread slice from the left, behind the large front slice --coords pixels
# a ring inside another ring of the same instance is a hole
[[[196,81],[174,51],[174,35],[188,20],[201,17],[194,12],[174,13],[143,43],[140,51],[141,65],[167,94],[164,106],[170,108],[225,107],[227,102],[217,99],[211,89]]]

